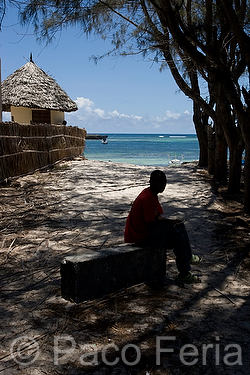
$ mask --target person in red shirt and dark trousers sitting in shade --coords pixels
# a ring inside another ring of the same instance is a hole
[[[155,170],[150,176],[150,186],[136,198],[126,221],[124,240],[143,247],[174,249],[179,271],[178,281],[197,283],[200,279],[190,272],[190,263],[200,261],[192,255],[188,234],[180,220],[166,219],[158,194],[166,187],[164,172]]]

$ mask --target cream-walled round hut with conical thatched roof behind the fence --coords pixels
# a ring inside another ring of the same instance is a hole
[[[30,61],[2,82],[3,111],[20,124],[58,124],[76,103],[42,69]]]

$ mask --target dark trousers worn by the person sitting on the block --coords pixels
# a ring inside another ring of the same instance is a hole
[[[179,273],[182,276],[186,276],[191,269],[190,259],[192,251],[184,224],[174,227],[167,221],[158,221],[157,226],[150,232],[149,237],[143,242],[142,246],[173,249]]]

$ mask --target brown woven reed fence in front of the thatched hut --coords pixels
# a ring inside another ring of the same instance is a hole
[[[0,181],[81,155],[85,129],[66,125],[0,123]]]

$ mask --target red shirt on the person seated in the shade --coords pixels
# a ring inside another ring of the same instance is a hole
[[[136,198],[126,221],[124,240],[135,243],[145,240],[149,235],[147,223],[156,221],[163,209],[157,195],[150,188],[144,189]]]

